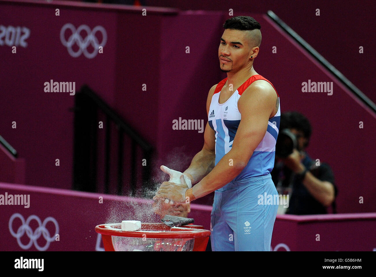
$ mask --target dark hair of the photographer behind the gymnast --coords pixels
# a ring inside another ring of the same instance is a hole
[[[303,116],[303,114],[298,113],[297,111],[287,111],[282,113],[280,117],[279,129],[283,130],[286,128],[302,131],[304,137],[308,140],[304,147],[308,146],[309,138],[312,134],[312,127],[307,117]]]

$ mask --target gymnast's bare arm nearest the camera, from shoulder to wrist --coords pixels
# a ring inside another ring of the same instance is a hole
[[[232,181],[246,167],[268,127],[275,109],[276,92],[266,81],[251,84],[238,101],[241,120],[231,150],[213,170],[193,187],[195,198],[203,197]],[[232,163],[230,163],[232,159]]]

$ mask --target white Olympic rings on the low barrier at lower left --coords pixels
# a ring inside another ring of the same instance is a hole
[[[15,218],[20,218],[22,225],[17,229],[17,233],[14,232],[12,224]],[[30,221],[35,220],[38,222],[39,227],[33,230],[30,228],[29,223]],[[53,236],[50,236],[50,232],[46,228],[46,224],[51,221],[53,224],[55,224],[55,234]],[[49,248],[50,243],[55,240],[55,235],[59,233],[59,224],[53,217],[47,217],[43,223],[37,217],[36,215],[30,215],[26,222],[25,219],[21,214],[13,214],[11,218],[9,219],[9,231],[11,232],[11,235],[17,238],[18,245],[24,250],[27,250],[31,247],[31,245],[34,243],[34,246],[39,251],[45,251],[47,248]],[[28,244],[24,245],[21,242],[21,237],[26,233],[26,235],[29,237],[30,241]],[[47,243],[44,245],[44,247],[41,247],[38,245],[37,240],[40,238],[40,236],[43,235],[43,238],[47,241]]]

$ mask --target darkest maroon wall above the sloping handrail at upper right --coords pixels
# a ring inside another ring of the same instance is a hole
[[[271,10],[376,103],[373,89],[376,86],[376,65],[370,62],[374,60],[375,49],[374,40],[370,39],[374,33],[371,11],[376,9],[373,0],[361,0],[356,4],[350,0],[147,0],[146,3],[149,6],[221,11],[224,14],[232,9],[233,16],[266,14]],[[320,16],[315,15],[316,9],[320,9]],[[362,54],[359,53],[360,46],[364,48]]]

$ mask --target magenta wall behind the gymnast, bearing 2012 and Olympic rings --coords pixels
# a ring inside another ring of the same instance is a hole
[[[0,46],[0,66],[6,72],[0,82],[0,130],[26,159],[26,184],[68,189],[72,185],[74,96],[44,92],[44,82],[50,79],[75,81],[76,90],[86,83],[99,93],[155,146],[156,161],[149,166],[157,177],[164,176],[160,164],[184,170],[201,149],[203,134],[173,130],[172,120],[204,119],[206,124],[208,90],[226,76],[217,68],[217,49],[227,14],[149,8],[143,17],[136,8],[70,5],[0,1],[2,25],[30,29],[27,47],[17,47],[17,54],[8,45]],[[263,32],[255,69],[273,82],[282,112],[298,110],[311,121],[308,152],[331,165],[339,189],[338,212],[374,211],[375,115],[265,16],[251,15]],[[66,23],[103,26],[108,36],[103,54],[94,59],[71,57],[59,38]],[[273,46],[276,54],[271,53]],[[333,95],[302,93],[301,84],[308,80],[333,81]],[[12,121],[17,129],[11,128]],[[210,197],[201,201],[212,203]]]

